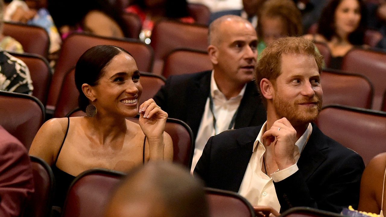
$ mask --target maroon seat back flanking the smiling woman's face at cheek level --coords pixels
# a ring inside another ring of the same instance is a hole
[[[78,108],[79,92],[75,85],[75,69],[70,70],[63,79],[61,91],[59,93],[58,104],[54,112],[54,117],[66,117],[66,115]],[[139,98],[139,105],[152,98],[159,89],[165,84],[165,78],[152,73],[141,72],[142,95]]]

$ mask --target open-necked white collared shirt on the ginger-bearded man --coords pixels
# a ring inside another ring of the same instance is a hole
[[[263,155],[266,151],[264,145],[261,143],[261,137],[266,131],[266,124],[267,122],[265,122],[261,127],[259,135],[254,142],[252,150],[253,153],[251,159],[249,160],[247,170],[245,170],[244,178],[239,189],[239,194],[245,197],[253,206],[266,205],[271,206],[275,210],[279,211],[280,204],[276,195],[273,181],[278,182],[284,180],[299,170],[296,163],[298,163],[300,153],[303,151],[304,146],[306,145],[308,138],[311,135],[312,125],[308,124],[306,131],[295,143],[295,146],[297,147],[293,153],[295,157],[295,164],[284,170],[274,172],[271,174],[271,178],[269,178],[269,176],[261,171]]]

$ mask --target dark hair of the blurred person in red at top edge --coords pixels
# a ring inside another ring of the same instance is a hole
[[[147,8],[144,0],[135,0],[130,5],[138,5],[143,10]],[[188,17],[188,3],[186,0],[165,0],[165,16],[173,19]]]

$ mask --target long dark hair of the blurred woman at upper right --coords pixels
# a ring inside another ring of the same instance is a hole
[[[318,24],[318,33],[323,35],[328,41],[333,36],[337,36],[335,29],[335,11],[343,0],[330,0],[320,15]],[[366,5],[362,0],[357,0],[361,11],[361,20],[358,28],[349,34],[349,42],[355,45],[362,45],[364,41],[364,32],[366,31]]]

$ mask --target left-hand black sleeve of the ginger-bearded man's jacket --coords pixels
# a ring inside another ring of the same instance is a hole
[[[194,176],[201,178],[206,185],[208,185],[210,175],[210,151],[212,149],[212,141],[213,136],[209,138],[202,155],[197,162],[196,168],[193,171]]]

